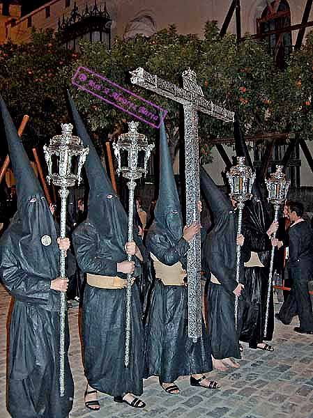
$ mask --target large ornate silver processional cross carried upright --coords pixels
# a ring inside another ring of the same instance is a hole
[[[183,88],[160,79],[144,70],[130,71],[132,84],[137,84],[158,93],[165,98],[183,104],[185,127],[185,181],[186,181],[186,223],[199,222],[197,202],[200,199],[199,185],[199,141],[198,111],[221,119],[234,121],[234,113],[204,98],[197,84],[197,75],[188,69],[183,72]],[[190,242],[187,254],[188,273],[188,336],[194,340],[201,336],[201,235]]]

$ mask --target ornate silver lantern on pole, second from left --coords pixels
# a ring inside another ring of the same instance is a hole
[[[129,122],[129,130],[126,134],[121,134],[119,139],[114,142],[114,154],[117,158],[119,167],[117,172],[128,179],[129,199],[128,199],[128,242],[133,241],[133,217],[134,217],[134,191],[136,181],[142,176],[146,176],[148,159],[154,144],[148,144],[146,136],[137,132],[138,122]],[[127,156],[124,161],[123,157]],[[123,165],[125,164],[125,165]],[[128,255],[128,261],[132,256]],[[125,367],[128,367],[130,358],[130,304],[132,297],[132,274],[127,275],[126,288],[126,325],[125,325]]]

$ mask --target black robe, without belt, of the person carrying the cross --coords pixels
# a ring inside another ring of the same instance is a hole
[[[183,238],[173,242],[165,229],[151,226],[146,246],[165,265],[181,262],[189,244]],[[186,286],[165,286],[158,277],[151,294],[145,325],[144,377],[160,376],[171,383],[178,376],[212,370],[211,346],[202,318],[202,336],[196,343],[188,337],[188,290]]]

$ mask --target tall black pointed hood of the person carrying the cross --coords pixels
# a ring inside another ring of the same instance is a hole
[[[181,203],[174,179],[164,122],[160,127],[160,187],[154,210],[154,222],[159,228],[165,229],[174,240],[179,240],[183,235]]]

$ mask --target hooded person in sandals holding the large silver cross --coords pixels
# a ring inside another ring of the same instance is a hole
[[[211,347],[203,320],[201,338],[194,343],[188,337],[186,254],[188,240],[195,235],[196,228],[183,228],[163,123],[160,127],[160,188],[154,215],[146,237],[156,280],[145,326],[144,376],[159,376],[162,388],[169,394],[179,392],[174,380],[185,375],[195,375],[190,377],[191,385],[215,389],[217,383],[203,376],[212,370]]]

